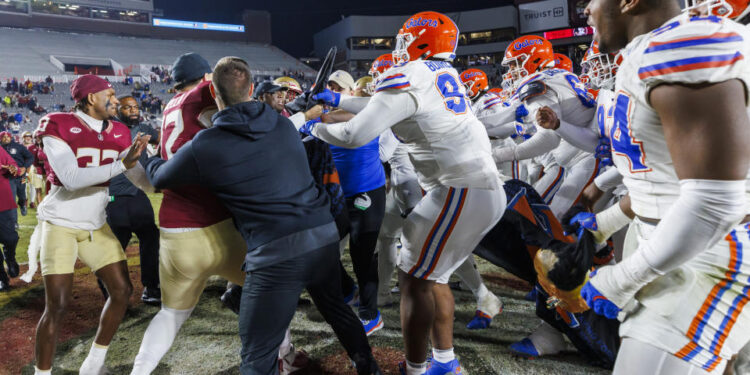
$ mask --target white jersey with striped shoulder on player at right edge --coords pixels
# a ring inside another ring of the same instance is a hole
[[[609,125],[615,166],[633,211],[661,219],[680,193],[659,115],[648,102],[660,83],[740,79],[750,87],[750,32],[731,20],[677,16],[625,49]]]

